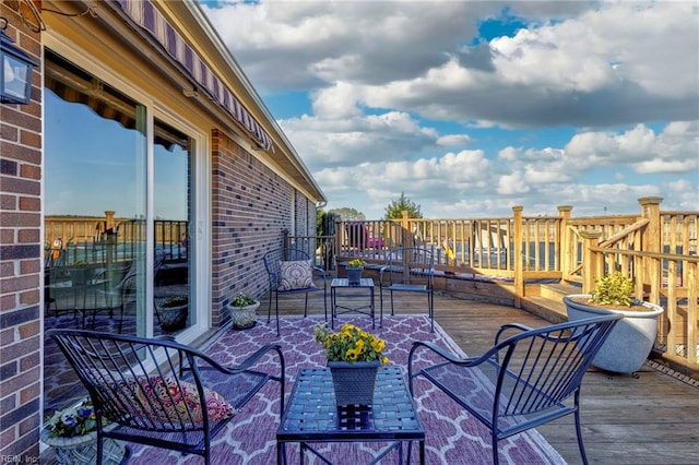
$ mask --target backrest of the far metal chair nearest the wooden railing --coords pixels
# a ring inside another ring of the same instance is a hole
[[[384,273],[389,284],[425,284],[431,287],[435,277],[435,255],[424,247],[393,249],[386,257]]]

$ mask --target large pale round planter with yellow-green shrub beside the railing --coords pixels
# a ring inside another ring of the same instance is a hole
[[[568,320],[621,313],[617,323],[594,358],[593,365],[608,371],[631,373],[645,362],[657,335],[661,306],[635,298],[633,282],[621,273],[595,279],[591,294],[564,297]]]

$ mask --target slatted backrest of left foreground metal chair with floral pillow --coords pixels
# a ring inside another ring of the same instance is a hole
[[[98,425],[105,418],[142,431],[185,433],[203,431],[235,413],[216,418],[218,413],[201,408],[211,405],[211,392],[202,385],[199,365],[215,362],[191,347],[93,331],[47,334],[87,389]]]

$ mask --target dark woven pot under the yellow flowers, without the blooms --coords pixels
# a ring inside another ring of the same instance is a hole
[[[381,366],[374,361],[328,361],[335,389],[336,405],[371,405],[376,374]]]

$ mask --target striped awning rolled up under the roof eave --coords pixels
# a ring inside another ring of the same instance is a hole
[[[138,26],[150,33],[163,46],[164,50],[189,72],[190,78],[205,88],[216,104],[223,107],[254,138],[260,147],[272,148],[272,140],[269,134],[150,0],[118,0],[118,2],[123,12]]]

